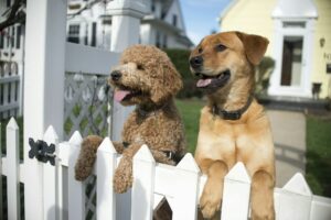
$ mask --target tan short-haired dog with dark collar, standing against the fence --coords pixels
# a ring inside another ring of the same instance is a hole
[[[275,158],[270,124],[253,98],[254,68],[268,40],[241,32],[204,37],[190,56],[196,86],[205,91],[195,160],[207,182],[200,198],[204,218],[221,208],[223,179],[236,162],[252,177],[252,219],[275,219]]]

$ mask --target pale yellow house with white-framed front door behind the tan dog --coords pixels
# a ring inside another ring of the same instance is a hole
[[[269,38],[276,66],[269,96],[331,97],[330,0],[233,0],[220,15],[222,31]]]

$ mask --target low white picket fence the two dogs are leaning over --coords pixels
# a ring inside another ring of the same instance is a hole
[[[44,219],[85,219],[86,183],[74,179],[81,134],[75,132],[68,142],[58,143],[53,127],[50,127],[44,141],[56,145],[56,164],[40,163],[44,175],[43,187],[25,187],[24,190],[42,190]],[[134,186],[130,201],[125,202],[118,201],[119,195],[113,191],[113,175],[119,160],[111,141],[106,138],[98,148],[94,169],[97,177],[96,219],[126,220],[130,213],[131,220],[151,220],[153,208],[164,197],[172,209],[172,219],[196,219],[199,198],[206,177],[201,175],[191,154],[188,153],[177,166],[169,166],[156,163],[149,148],[143,145],[134,158]],[[25,182],[28,170],[19,160],[19,128],[14,119],[7,125],[7,155],[1,157],[0,170],[7,176],[10,195],[8,219],[20,219],[19,183]],[[225,177],[222,220],[248,218],[249,190],[250,177],[244,165],[237,163]],[[331,199],[312,195],[301,174],[296,174],[282,188],[275,189],[275,209],[279,220],[331,219]]]

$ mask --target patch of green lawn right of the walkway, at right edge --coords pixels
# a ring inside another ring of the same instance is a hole
[[[316,195],[331,197],[331,118],[307,117],[306,179]]]

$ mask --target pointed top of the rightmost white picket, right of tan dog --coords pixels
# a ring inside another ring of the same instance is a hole
[[[295,176],[292,176],[292,178],[288,180],[288,183],[282,187],[282,189],[302,196],[312,196],[312,193],[305,177],[300,173],[295,174]]]

